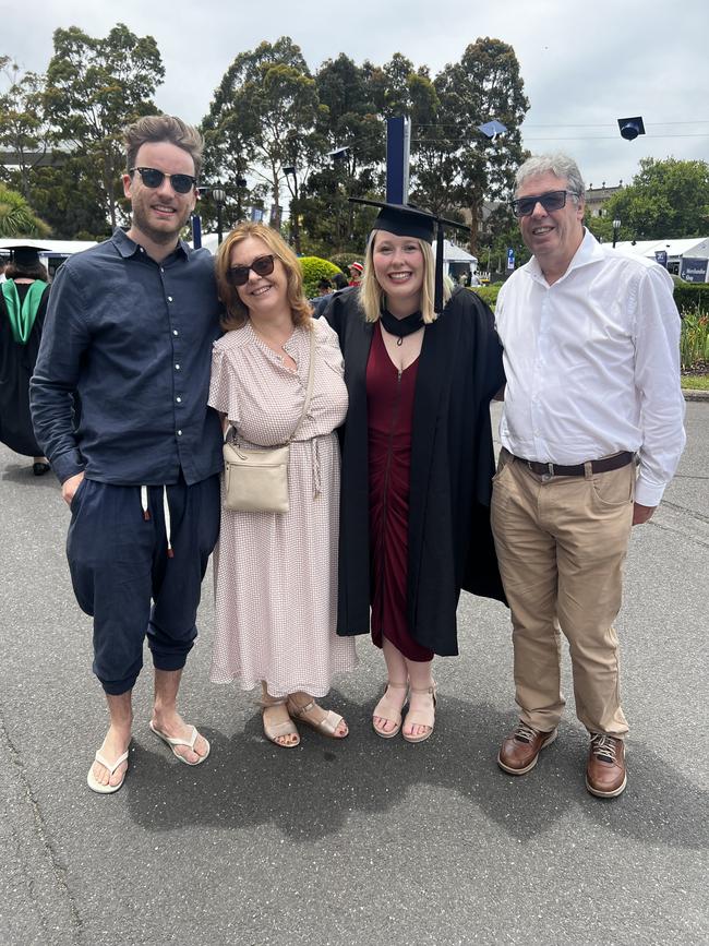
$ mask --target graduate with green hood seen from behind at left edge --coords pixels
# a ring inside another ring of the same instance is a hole
[[[29,379],[47,312],[47,270],[34,247],[15,247],[0,284],[0,441],[33,457],[33,471],[49,470],[32,428]]]

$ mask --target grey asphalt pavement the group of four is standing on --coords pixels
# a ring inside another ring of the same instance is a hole
[[[687,404],[687,433],[633,535],[617,622],[629,777],[612,801],[584,786],[567,656],[558,740],[524,778],[497,768],[516,719],[501,604],[464,596],[428,742],[372,732],[384,673],[361,639],[327,702],[350,737],[304,729],[284,751],[250,694],[208,681],[211,577],[181,690],[209,759],[181,765],[149,732],[146,669],[125,785],[92,793],[106,717],[69,512],[51,476],[0,446],[0,943],[708,943],[709,403]]]

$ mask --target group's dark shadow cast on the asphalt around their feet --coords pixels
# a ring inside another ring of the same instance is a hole
[[[122,790],[129,816],[158,831],[273,823],[291,840],[312,841],[338,833],[350,814],[394,811],[409,790],[431,786],[458,793],[522,841],[580,814],[620,836],[689,849],[707,843],[707,793],[641,743],[628,744],[627,790],[605,801],[586,791],[588,740],[580,729],[562,726],[537,768],[515,778],[495,763],[515,718],[488,705],[441,694],[436,731],[421,745],[375,737],[374,700],[361,706],[334,691],[326,705],[349,722],[343,742],[301,727],[300,746],[278,749],[263,738],[254,713],[231,739],[203,728],[212,755],[195,768],[154,746],[149,733],[135,733]]]

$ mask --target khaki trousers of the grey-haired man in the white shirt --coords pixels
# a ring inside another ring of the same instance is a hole
[[[624,737],[618,640],[623,564],[633,525],[635,464],[609,472],[533,474],[503,448],[492,530],[513,623],[520,718],[558,723],[561,633],[569,644],[576,714],[590,732]]]

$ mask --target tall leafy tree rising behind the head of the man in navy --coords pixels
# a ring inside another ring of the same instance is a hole
[[[165,77],[160,53],[152,36],[139,37],[122,23],[104,39],[76,26],[57,29],[53,43],[44,92],[53,141],[79,161],[82,187],[93,190],[116,227],[124,170],[122,130],[157,111],[153,95]]]

